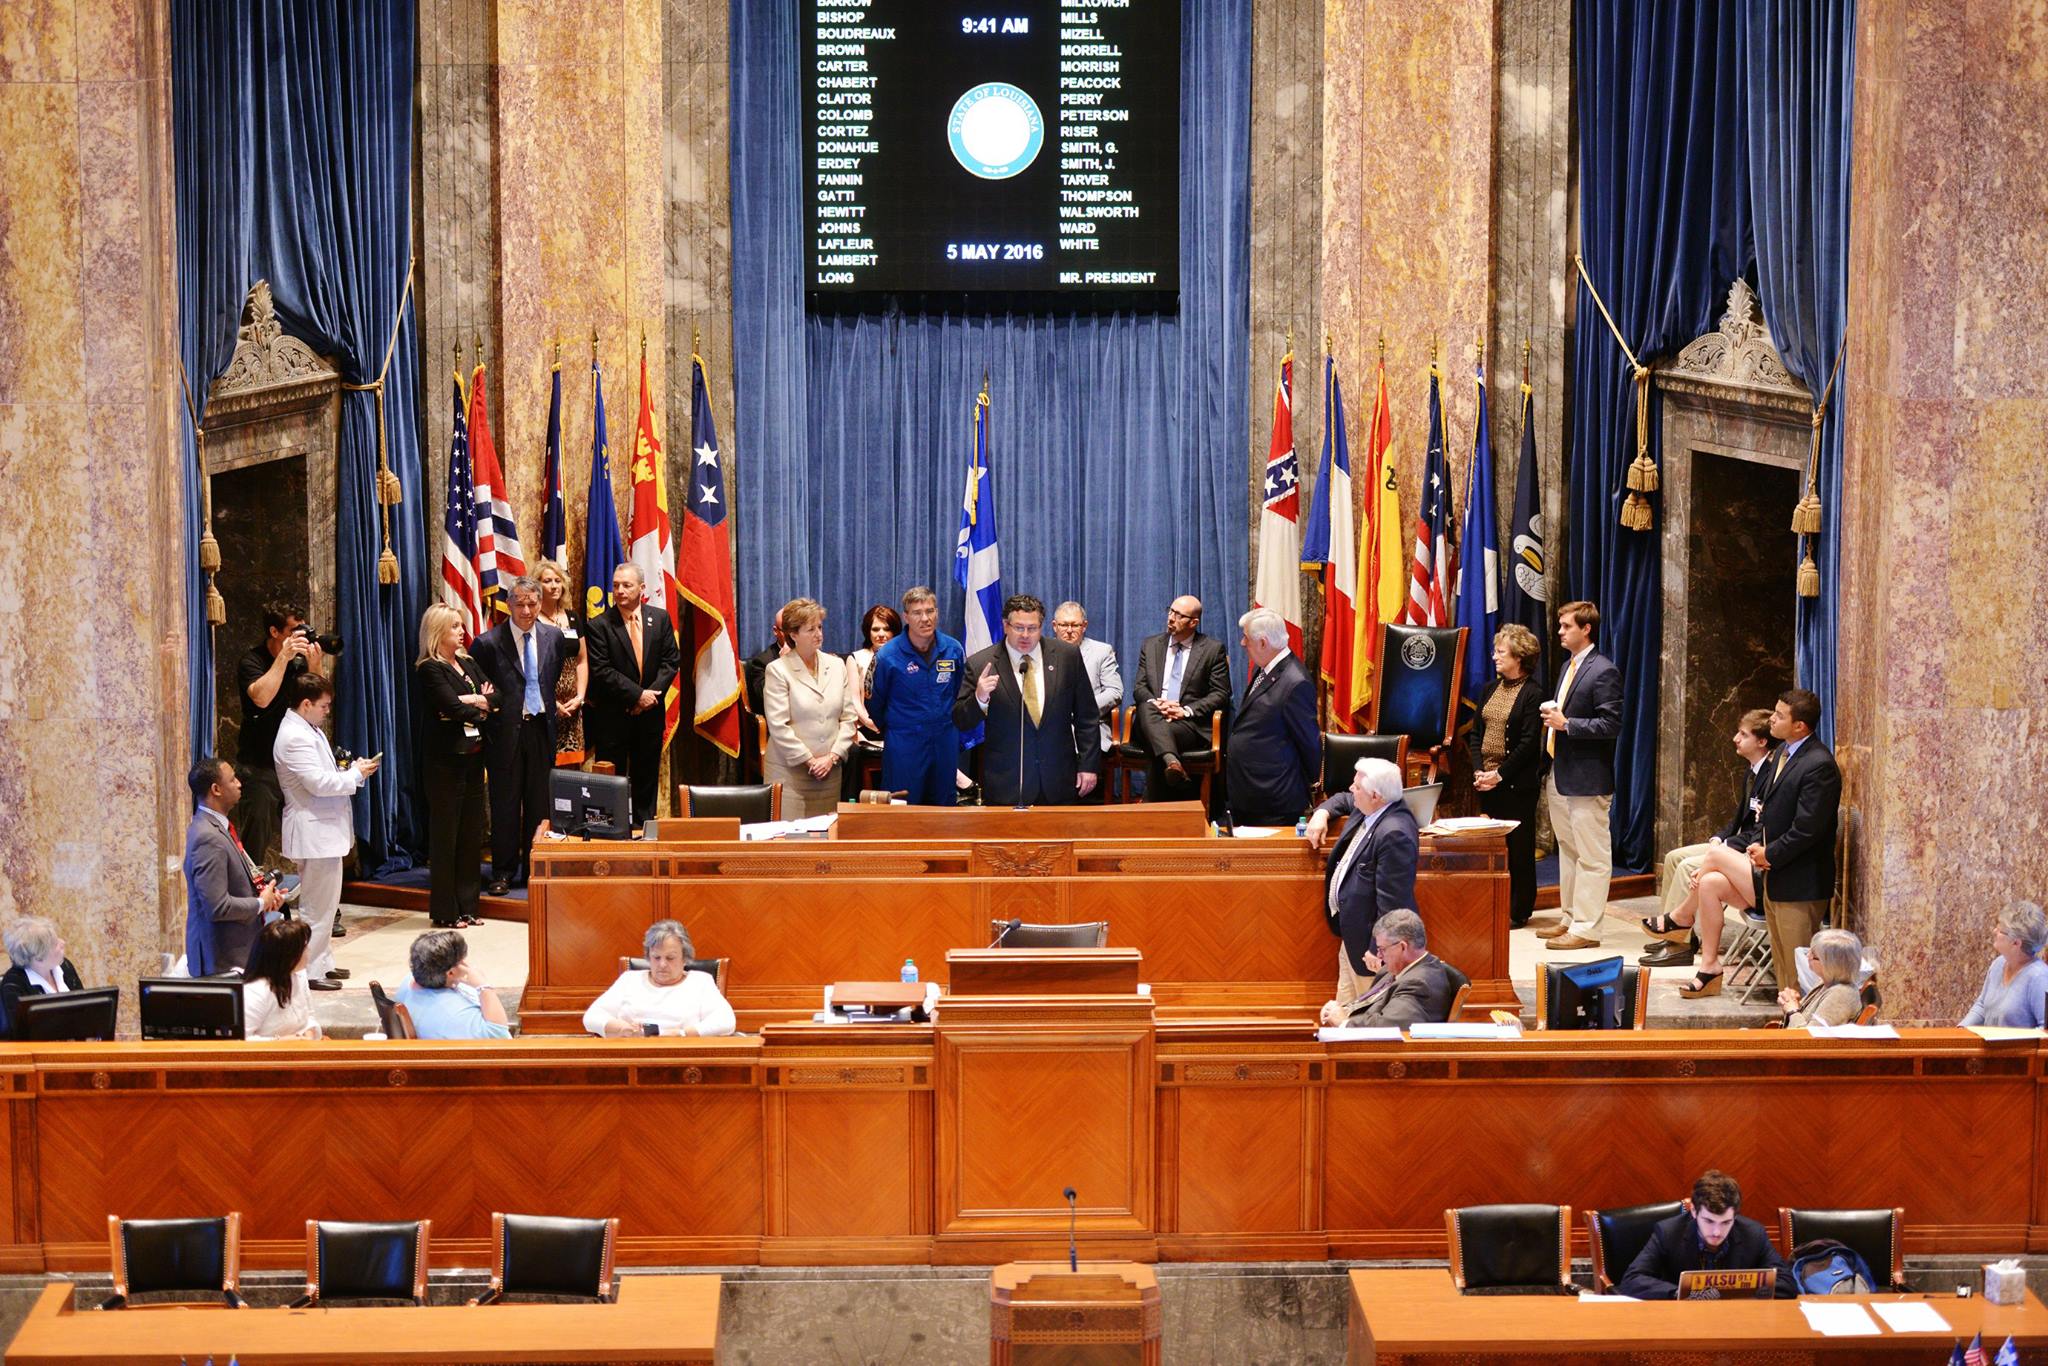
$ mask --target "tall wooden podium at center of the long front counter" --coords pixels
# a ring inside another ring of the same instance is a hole
[[[1153,1004],[1135,948],[956,948],[934,1022],[934,1257],[1153,1260]]]

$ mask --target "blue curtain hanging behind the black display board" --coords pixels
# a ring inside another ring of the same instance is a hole
[[[793,4],[731,6],[741,645],[819,598],[827,645],[930,584],[952,547],[981,373],[1004,588],[1077,598],[1130,678],[1194,592],[1235,651],[1249,588],[1251,4],[1182,10],[1178,315],[807,317]],[[1239,668],[1243,661],[1239,659]]]

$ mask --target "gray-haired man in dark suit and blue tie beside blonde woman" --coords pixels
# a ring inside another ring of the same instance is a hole
[[[492,791],[492,881],[506,895],[526,885],[532,831],[547,819],[547,774],[555,768],[555,684],[569,659],[561,631],[541,621],[541,582],[512,580],[512,616],[471,647],[498,692],[483,723],[483,770]]]

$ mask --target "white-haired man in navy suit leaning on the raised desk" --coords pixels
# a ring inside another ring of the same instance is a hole
[[[1376,973],[1372,928],[1386,911],[1415,905],[1415,858],[1421,842],[1415,817],[1401,801],[1401,770],[1386,760],[1358,760],[1352,786],[1309,817],[1309,848],[1323,848],[1333,819],[1352,819],[1329,850],[1323,907],[1337,950],[1337,999],[1323,1006],[1325,1024],[1341,1024]]]

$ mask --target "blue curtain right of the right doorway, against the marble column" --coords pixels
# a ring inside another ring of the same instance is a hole
[[[1749,88],[1749,205],[1757,295],[1778,354],[1815,397],[1847,328],[1849,137],[1855,0],[1745,0],[1737,49]],[[1798,598],[1794,672],[1821,694],[1821,737],[1835,739],[1835,629],[1841,594],[1841,381],[1821,428],[1821,596]]]

